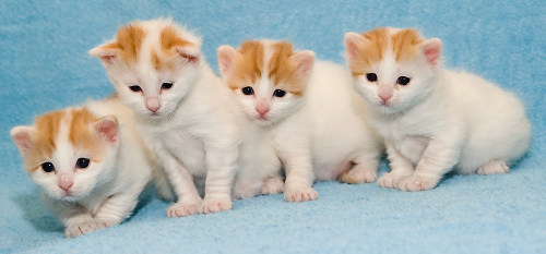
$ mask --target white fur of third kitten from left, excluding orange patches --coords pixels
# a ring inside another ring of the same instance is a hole
[[[264,64],[268,64],[271,41],[263,43]],[[229,74],[229,55],[234,50],[229,46],[218,49],[224,77]],[[302,61],[310,57],[312,64],[314,55],[309,52],[295,56],[300,56]],[[312,182],[335,180],[353,164],[356,166],[349,172],[361,182],[375,180],[381,144],[364,122],[364,102],[351,86],[348,71],[328,62],[314,63],[312,72],[311,66],[301,76],[309,81],[301,97],[290,93],[284,97],[272,96],[277,87],[268,78],[268,66],[262,68],[264,73],[258,84],[248,84],[253,87],[254,95],[245,95],[240,89],[235,92],[247,116],[242,123],[245,140],[235,183],[237,197],[250,197],[260,191],[264,194],[281,192],[281,165],[286,170],[285,199],[288,202],[318,198]],[[256,110],[260,104],[270,108],[265,119]]]

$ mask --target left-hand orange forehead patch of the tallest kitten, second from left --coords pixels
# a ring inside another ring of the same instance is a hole
[[[119,58],[126,63],[136,62],[145,32],[136,24],[121,27],[116,36],[116,41],[107,45],[120,50]]]

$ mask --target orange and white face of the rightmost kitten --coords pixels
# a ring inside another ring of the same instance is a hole
[[[432,87],[441,43],[424,40],[416,31],[378,28],[345,35],[347,61],[356,90],[383,113],[403,111]]]

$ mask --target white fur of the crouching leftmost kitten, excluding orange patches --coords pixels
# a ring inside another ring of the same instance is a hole
[[[140,193],[152,180],[152,170],[156,169],[132,126],[132,112],[119,100],[91,101],[87,109],[97,118],[116,116],[120,123],[118,128],[122,129],[118,130],[118,141],[108,144],[103,152],[103,160],[92,160],[85,169],[74,167],[79,158],[88,158],[90,155],[70,143],[67,126],[70,114],[67,114],[57,135],[52,158],[44,158],[44,162],[54,164],[55,172],[38,168],[29,173],[32,180],[41,188],[46,204],[64,223],[69,238],[116,226],[129,217]],[[17,126],[12,130],[12,136],[22,134],[22,131],[33,135],[33,128]],[[21,148],[22,156],[25,156],[25,150]],[[70,195],[59,188],[61,178],[73,181]]]

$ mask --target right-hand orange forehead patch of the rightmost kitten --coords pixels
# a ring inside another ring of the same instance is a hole
[[[415,29],[403,29],[392,35],[391,41],[396,61],[401,61],[412,59],[417,55],[417,45],[423,41],[423,38]]]

